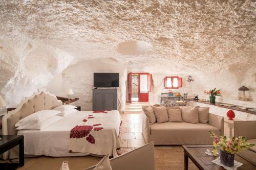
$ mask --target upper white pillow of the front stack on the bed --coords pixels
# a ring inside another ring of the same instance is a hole
[[[15,127],[38,124],[40,122],[43,122],[48,117],[54,116],[59,113],[61,112],[58,110],[41,110],[19,120],[19,122],[15,124]]]

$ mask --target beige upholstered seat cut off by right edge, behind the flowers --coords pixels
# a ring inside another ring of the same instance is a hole
[[[256,166],[256,120],[253,121],[234,121],[234,136],[244,136],[248,143],[255,144],[249,150],[238,153]]]

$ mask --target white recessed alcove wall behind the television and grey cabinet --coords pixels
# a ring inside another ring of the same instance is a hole
[[[79,62],[63,70],[47,86],[47,90],[60,96],[66,96],[65,89],[72,89],[71,98],[79,97],[72,103],[83,110],[92,110],[92,89],[94,72],[119,72],[119,110],[124,110],[127,70],[111,58]]]

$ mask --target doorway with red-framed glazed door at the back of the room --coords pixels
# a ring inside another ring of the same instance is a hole
[[[152,75],[147,72],[130,72],[129,103],[148,102],[148,92],[151,92]]]

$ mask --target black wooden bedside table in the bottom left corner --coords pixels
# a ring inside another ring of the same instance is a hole
[[[9,151],[16,145],[19,145],[19,163],[18,165],[24,166],[24,136],[23,135],[0,135],[2,138],[0,140],[0,154],[3,154],[6,151]],[[12,163],[8,163],[9,166],[12,166]],[[7,165],[5,163],[4,165]],[[2,164],[3,165],[3,164]],[[0,167],[2,167],[0,165]],[[2,168],[1,168],[2,169]],[[8,169],[8,168],[7,168]]]

